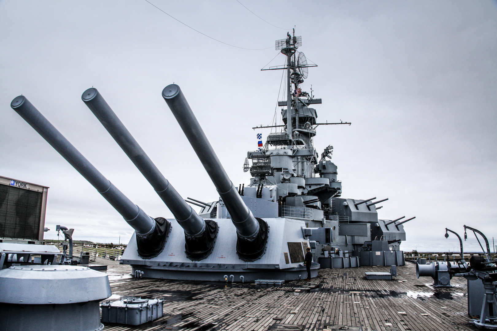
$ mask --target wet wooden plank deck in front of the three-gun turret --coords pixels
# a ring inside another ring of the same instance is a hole
[[[105,325],[104,331],[322,331],[329,326],[361,327],[363,331],[476,330],[468,324],[466,279],[454,277],[454,287],[435,288],[431,278],[416,279],[412,263],[397,267],[395,280],[364,277],[364,272],[389,269],[321,269],[311,282],[262,287],[135,279],[130,277],[129,265],[109,265],[111,299],[164,299],[164,317],[138,327]]]

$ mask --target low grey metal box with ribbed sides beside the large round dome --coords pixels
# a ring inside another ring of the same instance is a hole
[[[102,308],[102,323],[140,325],[162,317],[164,300],[123,298],[118,301],[106,301]]]

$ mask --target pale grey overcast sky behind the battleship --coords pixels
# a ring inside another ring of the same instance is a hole
[[[302,85],[323,99],[315,147],[334,146],[343,198],[389,198],[406,215],[405,251],[458,249],[448,227],[497,239],[497,6],[492,1],[0,1],[0,175],[49,186],[45,238],[127,242],[132,229],[10,107],[25,95],[117,188],[172,217],[83,104],[96,87],[183,196],[218,196],[161,97],[181,86],[235,185],[270,124],[285,61],[274,41],[296,26],[318,67]],[[279,27],[279,28],[278,28]],[[282,28],[282,29],[281,29]],[[267,49],[266,49],[267,48]],[[280,95],[280,100],[284,97]],[[277,111],[280,119],[279,109]],[[198,209],[195,207],[195,209]],[[466,250],[480,250],[468,233]]]

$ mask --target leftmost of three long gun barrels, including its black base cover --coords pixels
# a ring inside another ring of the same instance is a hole
[[[122,194],[26,97],[20,95],[14,98],[10,107],[52,145],[135,229],[138,253],[141,257],[152,258],[161,253],[171,229],[170,223],[165,218],[154,219],[148,216],[145,211]]]

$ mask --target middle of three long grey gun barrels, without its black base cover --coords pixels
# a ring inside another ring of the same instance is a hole
[[[98,90],[88,88],[81,98],[166,203],[185,233],[190,236],[201,235],[205,230],[205,221],[167,181]]]

